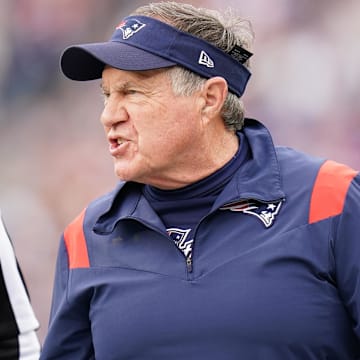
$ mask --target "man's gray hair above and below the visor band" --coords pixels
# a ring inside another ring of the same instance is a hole
[[[215,10],[167,1],[141,6],[135,10],[134,15],[136,14],[157,18],[211,43],[224,52],[229,52],[235,45],[249,50],[254,38],[250,22],[235,15],[230,9],[220,14]],[[249,67],[249,61],[244,65]],[[200,90],[206,81],[180,66],[170,68],[168,72],[176,95],[190,96]],[[244,124],[244,105],[240,98],[228,92],[221,115],[229,130],[240,130]]]

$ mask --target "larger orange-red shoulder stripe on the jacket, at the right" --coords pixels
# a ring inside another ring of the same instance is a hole
[[[310,200],[309,223],[339,215],[351,181],[357,171],[327,160],[320,167]]]

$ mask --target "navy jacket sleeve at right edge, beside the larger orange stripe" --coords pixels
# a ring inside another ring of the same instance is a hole
[[[333,236],[336,281],[360,344],[360,175],[351,182]]]

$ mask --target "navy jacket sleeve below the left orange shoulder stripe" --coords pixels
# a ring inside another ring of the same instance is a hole
[[[94,359],[89,322],[90,295],[78,287],[81,272],[70,269],[64,236],[58,251],[48,333],[40,359]]]

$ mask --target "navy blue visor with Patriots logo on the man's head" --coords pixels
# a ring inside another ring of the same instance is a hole
[[[205,78],[223,77],[229,90],[240,97],[251,75],[242,61],[251,53],[239,49],[240,58],[154,18],[129,16],[108,42],[65,49],[60,65],[66,77],[78,81],[101,78],[105,65],[128,71],[180,65]]]

